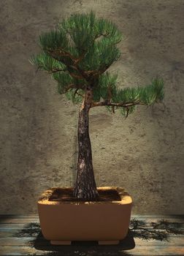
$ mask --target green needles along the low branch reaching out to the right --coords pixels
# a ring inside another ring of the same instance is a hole
[[[164,81],[162,79],[153,79],[148,86],[138,86],[134,88],[117,88],[118,75],[110,75],[109,72],[105,72],[99,77],[98,85],[93,89],[93,99],[99,102],[100,99],[107,100],[109,89],[112,93],[112,103],[137,103],[141,102],[145,105],[151,105],[154,102],[161,101],[164,98]],[[107,111],[112,111],[111,106],[105,106]],[[119,109],[123,116],[128,116],[136,109],[136,105],[129,107],[115,106],[115,109]]]

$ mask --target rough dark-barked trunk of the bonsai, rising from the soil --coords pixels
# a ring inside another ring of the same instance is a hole
[[[89,110],[92,91],[85,94],[78,121],[78,163],[77,181],[74,185],[74,197],[84,200],[96,200],[99,193],[93,173],[91,141],[89,137]]]

